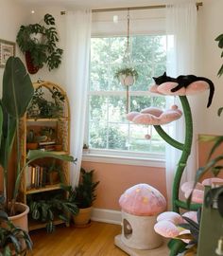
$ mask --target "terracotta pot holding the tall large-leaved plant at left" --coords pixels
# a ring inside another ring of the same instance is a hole
[[[28,222],[27,222],[27,214],[29,211],[28,206],[22,203],[15,203],[15,210],[21,213],[14,216],[10,216],[9,220],[14,224],[15,227],[19,227],[28,232]]]

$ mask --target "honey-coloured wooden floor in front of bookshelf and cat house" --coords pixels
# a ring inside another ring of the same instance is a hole
[[[121,227],[93,222],[89,228],[57,227],[54,233],[45,229],[30,232],[34,243],[34,256],[126,256],[114,246],[114,237],[121,233]]]

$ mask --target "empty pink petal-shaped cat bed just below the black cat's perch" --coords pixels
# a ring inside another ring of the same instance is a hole
[[[137,124],[162,125],[180,119],[182,112],[178,106],[173,105],[171,109],[161,110],[156,107],[147,107],[139,112],[130,112],[127,119]]]

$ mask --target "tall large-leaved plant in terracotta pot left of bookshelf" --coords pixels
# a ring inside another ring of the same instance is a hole
[[[13,218],[15,226],[20,226],[27,230],[28,207],[17,202],[19,189],[21,186],[22,175],[26,167],[32,161],[43,157],[54,157],[60,160],[74,162],[71,155],[56,155],[50,152],[40,150],[29,151],[27,154],[26,165],[21,166],[21,143],[19,121],[26,113],[26,108],[33,96],[34,88],[29,75],[26,73],[26,67],[19,58],[9,57],[3,75],[3,93],[0,105],[0,165],[3,170],[4,185],[4,210],[9,213],[9,219]],[[9,184],[9,160],[14,141],[16,141],[16,172],[14,185]],[[9,202],[9,188],[13,189],[12,198]],[[2,204],[2,203],[1,203]],[[19,212],[17,212],[19,211]],[[22,212],[21,212],[22,211]],[[20,214],[18,214],[20,213]],[[20,217],[25,222],[21,226]],[[19,223],[19,224],[16,224]]]

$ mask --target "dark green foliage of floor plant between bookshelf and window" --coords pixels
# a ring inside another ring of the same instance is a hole
[[[89,208],[96,199],[95,189],[99,181],[94,182],[94,170],[86,172],[83,168],[80,170],[80,181],[74,192],[71,193],[75,197],[78,208]]]

